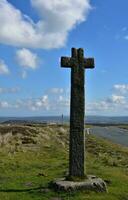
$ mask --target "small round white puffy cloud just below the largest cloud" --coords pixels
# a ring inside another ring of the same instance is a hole
[[[17,50],[16,60],[20,66],[25,68],[36,69],[39,64],[39,58],[37,54],[25,48]],[[26,77],[25,73],[23,73],[23,77]]]

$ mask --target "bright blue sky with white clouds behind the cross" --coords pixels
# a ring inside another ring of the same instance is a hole
[[[86,115],[128,116],[127,0],[0,0],[0,116],[69,115],[61,56],[84,48]]]

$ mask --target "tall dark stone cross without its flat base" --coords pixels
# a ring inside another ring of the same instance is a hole
[[[69,176],[84,177],[84,69],[94,68],[94,59],[84,58],[82,48],[72,48],[72,57],[61,57],[61,67],[71,68]]]

